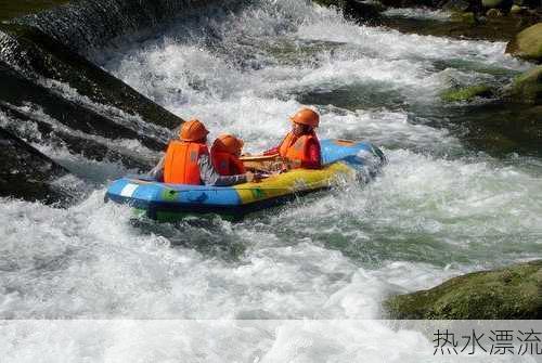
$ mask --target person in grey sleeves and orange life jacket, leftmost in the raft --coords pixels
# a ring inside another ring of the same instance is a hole
[[[172,184],[228,186],[254,181],[255,176],[251,172],[234,176],[220,176],[217,172],[206,144],[208,133],[197,119],[184,122],[179,139],[169,143],[166,155],[151,174]]]

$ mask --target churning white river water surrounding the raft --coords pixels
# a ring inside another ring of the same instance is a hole
[[[457,107],[439,101],[451,85],[502,82],[528,68],[504,55],[504,48],[361,26],[302,1],[261,0],[236,12],[210,10],[94,54],[103,68],[158,104],[202,119],[211,137],[241,135],[249,152],[276,144],[287,117],[310,104],[322,115],[320,138],[370,140],[389,164],[367,185],[304,197],[242,222],[194,217],[154,224],[103,203],[107,183],[130,170],[50,147],[48,155],[76,167],[86,197],[68,209],[2,200],[0,314],[382,319],[380,302],[390,294],[540,258],[542,159],[490,156],[469,146],[450,120]],[[125,146],[150,153],[139,144]],[[413,345],[429,345],[376,323],[370,329],[377,333],[367,335],[366,324],[349,326],[348,337],[332,348],[324,342],[333,330],[306,327],[309,348],[323,348],[305,361],[336,350],[388,349],[390,337],[396,343],[402,339],[390,361],[408,356]],[[70,341],[69,356],[87,356],[89,346],[115,346],[91,338],[83,325],[61,335]],[[117,328],[124,335],[130,330]],[[198,351],[149,339],[143,347],[186,361],[220,361],[217,351],[231,356],[236,343],[243,346],[234,334],[202,329],[199,336],[216,339],[216,346],[207,341]],[[287,361],[295,355],[289,339],[299,338],[294,330],[263,328],[251,341],[260,353],[240,360]],[[31,340],[41,348],[28,356],[54,351],[62,339],[51,334]],[[228,339],[235,343],[230,347]],[[111,356],[130,360],[136,353],[128,346],[117,346]],[[93,354],[88,353],[91,360],[104,358]],[[374,361],[388,360],[374,355]]]

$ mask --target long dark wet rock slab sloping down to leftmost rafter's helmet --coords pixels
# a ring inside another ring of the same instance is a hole
[[[0,25],[0,60],[26,76],[53,79],[106,108],[140,115],[146,122],[173,129],[182,120],[83,56],[46,34],[18,25]],[[21,56],[24,54],[24,56]]]

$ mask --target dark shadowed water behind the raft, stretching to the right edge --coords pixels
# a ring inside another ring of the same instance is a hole
[[[542,157],[542,106],[496,101],[418,104],[383,83],[315,89],[296,95],[304,104],[333,105],[351,112],[386,108],[406,112],[409,122],[447,129],[466,146],[503,158],[512,153]],[[457,155],[463,156],[463,155]]]

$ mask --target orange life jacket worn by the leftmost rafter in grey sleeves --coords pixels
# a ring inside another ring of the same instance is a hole
[[[173,140],[169,143],[164,161],[164,182],[173,184],[202,184],[197,160],[209,154],[207,145]]]

